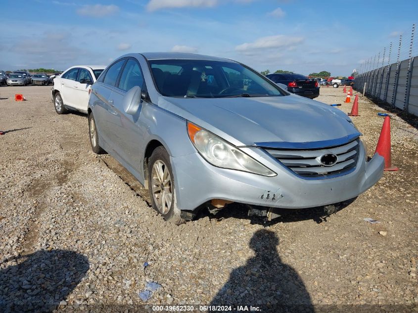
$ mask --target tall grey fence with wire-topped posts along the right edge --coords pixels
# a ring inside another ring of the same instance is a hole
[[[399,41],[360,65],[354,89],[418,116],[418,40],[415,24]],[[397,35],[397,34],[395,34]]]

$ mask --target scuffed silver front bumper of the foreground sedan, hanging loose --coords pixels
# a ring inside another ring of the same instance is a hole
[[[266,157],[261,149],[241,149],[259,161],[264,159],[263,164],[278,175],[265,177],[217,168],[197,152],[172,157],[178,207],[194,210],[212,199],[285,209],[324,206],[358,196],[383,175],[384,159],[375,154],[366,162],[363,146],[354,171],[327,179],[298,177],[275,159]]]

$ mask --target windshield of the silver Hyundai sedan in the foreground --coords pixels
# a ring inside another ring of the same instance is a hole
[[[189,98],[287,95],[262,75],[238,63],[208,60],[149,60],[158,91]]]

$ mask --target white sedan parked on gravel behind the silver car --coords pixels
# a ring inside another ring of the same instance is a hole
[[[89,104],[89,89],[97,80],[104,65],[72,66],[53,80],[51,100],[58,114],[76,110],[87,113]]]

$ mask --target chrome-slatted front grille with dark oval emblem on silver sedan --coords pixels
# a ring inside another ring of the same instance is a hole
[[[266,149],[266,151],[299,176],[326,178],[331,175],[344,175],[353,169],[357,164],[359,147],[359,139],[356,139],[343,145],[323,149]],[[326,154],[337,156],[334,165],[325,166],[321,163],[321,157]]]

